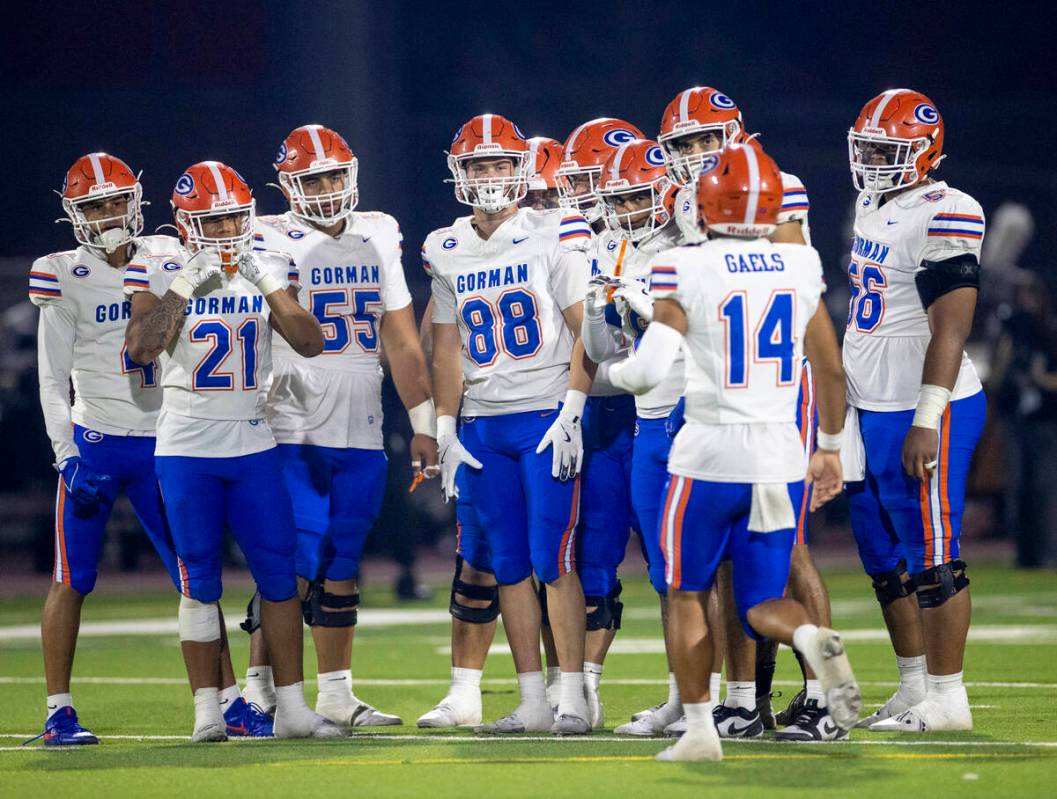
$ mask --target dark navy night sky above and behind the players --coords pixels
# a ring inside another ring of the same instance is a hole
[[[747,129],[762,132],[767,151],[804,181],[831,287],[843,284],[854,198],[847,130],[868,99],[892,87],[924,92],[943,114],[941,179],[988,213],[1008,200],[1031,208],[1035,238],[1022,265],[1049,279],[1057,59],[1039,7],[8,3],[0,33],[0,313],[24,299],[32,258],[73,244],[69,228],[53,224],[61,215],[53,189],[77,156],[106,150],[143,170],[150,231],[170,221],[168,198],[184,167],[205,159],[235,166],[259,212],[282,210],[279,192],[265,186],[273,155],[292,128],[314,122],[342,133],[359,156],[359,208],[400,221],[421,313],[428,284],[419,245],[466,212],[442,182],[444,150],[462,122],[492,111],[526,135],[564,140],[605,115],[652,136],[671,97],[694,85],[733,97]],[[27,404],[35,387],[34,378],[23,392]],[[42,427],[19,432],[25,447],[50,457]]]

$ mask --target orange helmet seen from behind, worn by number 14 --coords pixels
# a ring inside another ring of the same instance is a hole
[[[709,155],[698,175],[702,230],[757,239],[778,226],[782,174],[759,145],[736,144]]]

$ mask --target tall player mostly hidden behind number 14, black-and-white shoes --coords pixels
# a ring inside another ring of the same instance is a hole
[[[701,164],[727,144],[752,142],[756,138],[746,133],[741,110],[729,96],[712,87],[693,87],[680,92],[668,104],[661,117],[657,141],[665,149],[673,178],[682,186],[675,201],[676,220],[686,241],[699,240],[702,234],[697,227],[693,178]],[[808,191],[795,174],[782,172],[781,178],[782,204],[778,224],[767,238],[775,243],[810,244]],[[822,326],[824,321],[820,318],[818,324]],[[831,323],[831,330],[832,327]],[[841,376],[839,357],[827,358],[826,355],[826,351],[820,352],[816,348],[813,353],[815,363],[805,363],[801,378],[801,411],[797,414],[797,422],[809,456],[816,427],[813,372],[823,369],[834,376]],[[843,403],[842,395],[836,397],[823,394],[818,400],[820,405]],[[810,494],[809,489],[798,516],[797,541],[793,547],[793,565],[790,570],[790,593],[808,608],[815,624],[828,627],[831,624],[829,593],[808,546]],[[742,735],[757,736],[763,729],[774,729],[776,726],[776,714],[771,709],[771,685],[778,645],[773,640],[754,644],[742,634],[730,607],[729,574],[729,562],[725,561],[717,580],[719,589],[713,592],[712,597],[713,611],[723,619],[726,630],[725,640],[720,642],[720,646],[716,648],[717,663],[712,677],[716,685],[719,684],[724,654],[728,667],[727,695],[722,705],[717,705],[717,714],[724,717],[720,724],[722,735],[731,725],[736,725],[743,730]],[[803,659],[797,659],[803,673],[804,688],[785,710],[777,714],[777,723],[787,727],[779,737],[783,740],[817,740],[818,731],[823,728],[837,730],[833,733],[835,736],[843,736],[842,731],[826,719],[818,681]],[[673,725],[671,732],[679,731],[680,725]]]

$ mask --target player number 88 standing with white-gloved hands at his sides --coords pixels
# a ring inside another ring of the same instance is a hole
[[[590,377],[578,333],[591,230],[578,213],[518,208],[526,155],[524,136],[504,117],[482,114],[462,126],[448,166],[456,198],[474,212],[424,245],[441,478],[450,498],[462,472],[487,538],[521,689],[517,709],[482,731],[582,735],[590,725],[576,478]],[[561,668],[557,719],[541,671],[533,574],[549,587]]]

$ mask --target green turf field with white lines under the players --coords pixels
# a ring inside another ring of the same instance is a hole
[[[725,745],[719,764],[662,764],[660,740],[625,740],[612,728],[666,695],[656,600],[628,579],[624,629],[606,665],[606,730],[590,739],[480,739],[468,731],[419,733],[413,726],[340,741],[187,743],[190,694],[174,632],[171,595],[114,596],[86,603],[74,698],[104,741],[74,750],[19,747],[40,730],[44,687],[39,643],[29,626],[38,599],[0,601],[0,797],[21,796],[1053,796],[1057,783],[1057,579],[1051,573],[976,568],[966,679],[971,733],[898,737],[855,730],[848,743]],[[869,582],[827,575],[834,626],[846,633],[866,705],[880,704],[896,672]],[[104,589],[105,590],[105,589]],[[356,693],[413,724],[447,686],[446,593],[430,606],[360,612]],[[224,605],[237,615],[243,595]],[[365,592],[372,607],[371,592]],[[376,603],[373,607],[377,607]],[[409,615],[414,614],[414,615]],[[381,617],[379,617],[381,616]],[[172,625],[159,631],[152,619]],[[138,628],[92,623],[138,621]],[[89,635],[88,633],[93,633]],[[101,633],[101,634],[96,634]],[[502,643],[499,642],[500,647]],[[246,636],[231,635],[236,672]],[[311,652],[311,650],[310,650]],[[307,658],[312,661],[311,654]],[[791,696],[792,655],[779,656],[778,687]],[[310,704],[314,671],[309,673]],[[513,665],[494,652],[485,672],[485,717],[517,704]],[[777,700],[781,706],[783,700]]]

